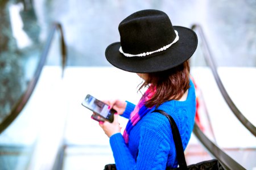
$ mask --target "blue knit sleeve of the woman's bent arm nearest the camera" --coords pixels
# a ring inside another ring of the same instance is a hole
[[[110,137],[117,169],[166,169],[170,144],[159,127],[141,127],[138,156],[134,158],[120,133]]]

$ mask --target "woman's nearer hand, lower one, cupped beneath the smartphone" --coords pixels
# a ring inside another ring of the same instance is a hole
[[[121,127],[118,122],[118,114],[114,114],[114,121],[112,123],[108,121],[99,122],[101,128],[105,131],[105,134],[110,138],[113,134],[120,133]]]

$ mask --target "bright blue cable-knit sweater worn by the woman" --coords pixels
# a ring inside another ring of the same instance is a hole
[[[191,137],[196,112],[195,87],[192,82],[190,85],[187,100],[167,101],[158,108],[174,118],[184,149]],[[129,118],[134,107],[134,104],[127,102],[122,116]],[[162,114],[153,112],[154,110],[155,107],[131,130],[128,145],[121,133],[110,137],[110,146],[118,170],[177,167],[170,122]]]

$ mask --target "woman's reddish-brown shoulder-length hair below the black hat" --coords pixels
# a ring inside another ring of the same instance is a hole
[[[189,62],[185,61],[170,70],[147,73],[147,79],[139,88],[150,86],[156,89],[155,94],[146,102],[151,108],[168,100],[179,100],[189,88]]]

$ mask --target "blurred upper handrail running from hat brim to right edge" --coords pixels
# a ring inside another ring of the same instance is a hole
[[[232,112],[238,118],[238,120],[243,124],[243,126],[245,126],[246,129],[248,129],[254,135],[254,137],[256,137],[256,128],[255,128],[255,126],[253,124],[251,124],[251,122],[249,120],[247,120],[247,118],[245,116],[243,116],[243,114],[239,111],[239,109],[233,103],[232,99],[228,95],[228,92],[226,92],[225,87],[221,82],[220,76],[218,75],[218,72],[217,72],[217,69],[216,69],[217,68],[216,64],[215,64],[214,59],[212,57],[212,53],[210,52],[207,41],[205,39],[203,29],[198,24],[192,25],[192,29],[198,29],[198,31],[199,31],[199,34],[200,34],[200,37],[201,37],[201,40],[202,40],[202,44],[203,44],[203,48],[204,48],[204,50],[203,50],[204,57],[205,57],[208,65],[209,65],[210,69],[212,70],[214,79],[216,80],[217,86],[218,86],[222,96],[224,97],[226,103],[229,105],[229,108],[232,110]]]

